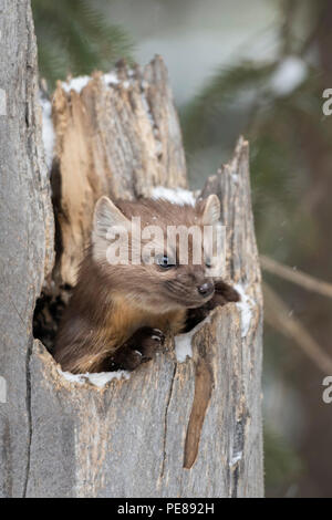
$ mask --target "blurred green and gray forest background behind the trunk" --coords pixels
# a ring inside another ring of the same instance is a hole
[[[41,75],[108,71],[162,54],[191,187],[250,142],[266,284],[268,497],[332,497],[332,2],[32,0]],[[331,55],[330,55],[331,54]]]

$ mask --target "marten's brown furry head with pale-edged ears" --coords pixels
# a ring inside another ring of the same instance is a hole
[[[115,205],[102,197],[94,211],[92,258],[112,299],[152,313],[206,303],[215,291],[210,273],[219,218],[216,195],[195,206],[165,199]]]

